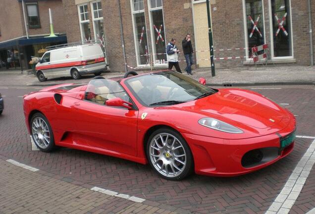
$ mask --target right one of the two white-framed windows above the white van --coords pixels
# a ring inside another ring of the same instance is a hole
[[[93,29],[94,29],[94,39],[99,41],[100,46],[104,52],[105,60],[107,63],[107,57],[105,52],[105,34],[104,34],[104,18],[102,2],[96,1],[92,2],[92,19],[93,19]]]

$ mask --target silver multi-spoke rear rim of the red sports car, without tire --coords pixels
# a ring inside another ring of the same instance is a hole
[[[32,136],[35,143],[42,149],[46,149],[51,141],[51,135],[47,123],[42,117],[35,117],[32,122]]]

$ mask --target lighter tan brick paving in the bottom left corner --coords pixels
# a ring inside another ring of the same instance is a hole
[[[0,214],[177,214],[95,192],[31,169],[0,159]]]

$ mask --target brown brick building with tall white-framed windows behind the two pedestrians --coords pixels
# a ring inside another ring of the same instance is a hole
[[[198,67],[209,67],[210,52],[206,0],[62,0],[69,42],[105,40],[107,63],[112,71],[124,70],[122,34],[129,66],[149,69],[151,54],[154,69],[167,66],[165,46],[171,38],[181,40],[189,32]],[[119,3],[118,3],[119,2]],[[119,5],[120,4],[120,5]],[[312,4],[312,12],[315,5]],[[269,46],[269,63],[310,65],[310,35],[307,0],[210,0],[216,57],[245,56],[245,59],[216,60],[216,67],[253,64],[252,47]],[[254,24],[257,28],[251,35]],[[283,20],[277,33],[279,22]],[[315,16],[312,18],[315,22]],[[161,38],[157,31],[160,30]],[[143,39],[141,35],[143,32]],[[313,36],[315,33],[313,33]],[[163,39],[163,40],[162,40]],[[140,42],[141,41],[141,42]],[[314,40],[315,42],[315,40]],[[315,44],[314,44],[315,45]],[[200,52],[204,51],[204,52]],[[146,55],[149,53],[149,56]],[[180,55],[180,59],[184,59]],[[203,60],[204,59],[204,60]],[[181,62],[185,67],[185,62]]]

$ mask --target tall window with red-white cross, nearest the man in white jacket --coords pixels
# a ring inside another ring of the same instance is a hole
[[[149,11],[154,62],[167,63],[162,0],[149,0]]]

